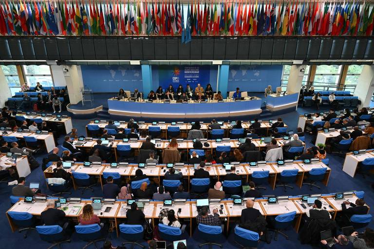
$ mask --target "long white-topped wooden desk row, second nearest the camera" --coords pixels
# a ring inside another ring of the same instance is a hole
[[[278,166],[276,163],[268,162],[263,165],[259,165],[258,167],[250,167],[248,163],[241,163],[241,164],[234,164],[236,170],[239,171],[239,174],[242,178],[244,178],[245,182],[249,181],[250,176],[254,171],[269,171],[269,184],[275,189],[276,180],[280,178],[281,172],[287,169],[297,169],[299,171],[298,178],[297,178],[297,185],[301,188],[303,179],[307,176],[308,172],[313,168],[327,168],[325,173],[325,178],[323,179],[322,183],[327,186],[331,174],[331,169],[326,166],[323,162],[319,161],[317,163],[312,164],[304,164],[302,161],[294,161],[292,164],[286,164],[284,166]],[[55,168],[56,165],[53,164],[49,168],[44,171],[45,178],[52,178],[53,171],[52,169]],[[99,182],[101,186],[103,185],[103,173],[104,172],[117,172],[121,175],[121,177],[125,179],[130,179],[135,177],[135,171],[138,169],[138,164],[129,164],[125,167],[118,167],[118,168],[111,168],[110,164],[101,164],[100,166],[92,166],[92,167],[83,167],[82,163],[76,163],[72,166],[72,170],[75,172],[86,173],[90,176],[94,176],[99,178]],[[186,164],[183,168],[175,168],[176,170],[182,172],[184,178],[190,181],[193,178],[193,174],[195,172],[194,165]],[[142,168],[143,174],[146,174],[149,178],[153,178],[158,182],[161,182],[165,173],[167,172],[166,164],[158,164],[154,167],[147,167]],[[206,171],[209,172],[209,176],[211,178],[217,178],[220,181],[224,180],[224,176],[226,175],[226,171],[224,170],[222,164],[212,164],[211,166],[206,166]],[[73,179],[73,184],[75,187],[75,182]]]

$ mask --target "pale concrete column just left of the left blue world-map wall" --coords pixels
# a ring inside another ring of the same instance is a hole
[[[64,68],[69,71],[64,72]],[[80,90],[83,89],[83,79],[80,66],[61,66],[61,71],[63,72],[65,83],[68,87],[70,103],[77,104],[82,101]]]

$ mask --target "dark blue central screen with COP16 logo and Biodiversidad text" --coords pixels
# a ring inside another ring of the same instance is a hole
[[[152,85],[156,90],[161,86],[164,90],[171,84],[176,90],[181,84],[186,88],[189,84],[195,88],[200,83],[206,87],[208,83],[213,89],[217,86],[217,67],[208,65],[170,65],[152,66]]]

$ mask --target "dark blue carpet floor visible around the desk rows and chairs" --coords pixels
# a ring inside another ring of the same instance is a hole
[[[287,114],[281,115],[283,118],[285,124],[289,125],[290,130],[295,130],[297,128],[299,115],[303,114],[305,112],[313,112],[313,108],[310,109],[303,109],[298,108],[298,111],[293,111]],[[320,110],[320,111],[323,111]],[[274,116],[269,116],[269,118],[276,118]],[[89,123],[90,120],[73,120],[73,126],[78,129],[79,135],[86,135],[85,134],[85,125]],[[310,144],[311,137],[309,135],[306,136],[306,143],[307,146],[311,146]],[[59,138],[58,143],[61,144],[63,142],[63,138]],[[41,165],[41,159],[45,157],[44,155],[38,155],[37,160],[39,161]],[[314,193],[332,193],[332,192],[338,192],[338,191],[350,191],[350,190],[357,190],[357,191],[365,191],[365,201],[368,203],[369,206],[374,207],[374,196],[372,196],[372,189],[371,189],[371,183],[373,182],[373,178],[367,177],[362,178],[361,176],[356,176],[355,178],[349,177],[347,174],[342,172],[342,163],[343,158],[337,157],[336,155],[328,155],[328,158],[330,159],[330,167],[332,169],[332,173],[330,176],[329,184],[327,187],[323,186],[320,190],[314,189],[312,191],[309,190],[308,187],[302,187],[301,189],[299,187],[296,187],[293,190],[288,190],[287,195],[300,195],[300,194],[314,194]],[[40,182],[41,183],[41,191],[45,194],[52,194],[48,189],[46,188],[45,179],[43,176],[43,173],[41,171],[41,168],[37,168],[32,171],[32,173],[27,177],[28,182]],[[1,183],[0,185],[0,199],[2,200],[0,202],[0,212],[2,215],[0,215],[0,224],[1,224],[1,236],[0,236],[0,248],[39,248],[39,249],[45,249],[50,246],[50,244],[43,242],[40,240],[39,236],[37,235],[36,231],[30,231],[28,233],[28,237],[26,239],[23,239],[23,233],[12,233],[8,220],[6,218],[5,212],[10,208],[10,201],[9,196],[11,195],[11,186],[6,186],[6,184]],[[86,191],[83,195],[81,195],[80,191],[72,191],[72,196],[74,197],[81,197],[81,198],[89,198],[92,196],[101,196],[101,188],[99,185],[94,187],[93,193],[91,191]],[[271,190],[270,188],[267,188],[267,190],[262,192],[263,195],[284,195],[284,191],[282,188],[278,188],[275,190]],[[374,212],[371,210],[371,214],[374,214]],[[373,224],[370,224],[371,227],[374,227]],[[261,242],[259,245],[260,249],[310,249],[311,246],[308,245],[301,245],[298,240],[298,234],[292,229],[288,229],[286,233],[289,235],[289,240],[286,240],[281,235],[278,237],[278,241],[272,241],[271,244],[266,244],[264,242]],[[232,234],[232,233],[230,233]],[[82,248],[85,245],[85,242],[80,241],[76,236],[73,234],[72,236],[72,242],[71,244],[64,244],[62,245],[63,249],[67,248]],[[121,238],[117,238],[116,235],[113,233],[110,235],[110,239],[112,240],[113,245],[118,246],[122,243]],[[196,248],[198,244],[201,241],[197,238],[197,236],[193,235],[192,237],[189,237],[187,239],[187,248]],[[17,245],[17,246],[16,246]],[[98,245],[102,245],[102,242],[99,242]],[[143,245],[146,245],[146,243],[143,243]],[[235,249],[239,248],[233,241],[233,236],[229,235],[226,239],[223,240],[223,246],[225,249]],[[93,246],[90,246],[89,248],[94,248]],[[207,248],[207,247],[206,247]]]

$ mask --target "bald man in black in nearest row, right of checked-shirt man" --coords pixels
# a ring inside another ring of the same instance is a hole
[[[249,231],[255,231],[260,236],[266,230],[265,217],[258,209],[253,208],[255,202],[253,200],[246,200],[245,205],[247,208],[242,210],[240,216],[240,227]]]

